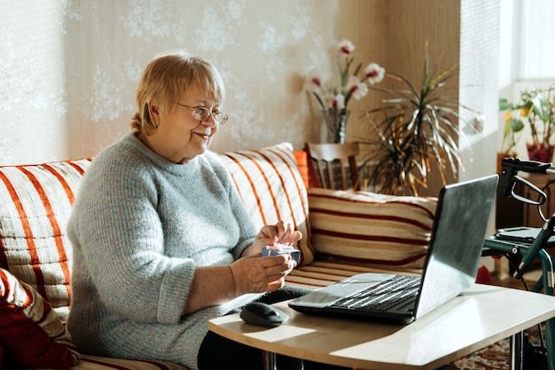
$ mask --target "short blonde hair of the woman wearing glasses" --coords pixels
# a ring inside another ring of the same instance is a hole
[[[146,66],[137,87],[137,113],[131,121],[136,133],[152,130],[154,122],[148,104],[168,111],[172,102],[189,89],[207,94],[220,104],[225,98],[222,76],[207,59],[193,57],[183,51],[157,56]]]

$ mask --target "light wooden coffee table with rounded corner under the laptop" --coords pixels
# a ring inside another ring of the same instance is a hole
[[[555,317],[553,296],[480,284],[406,326],[306,315],[287,303],[276,307],[290,316],[280,327],[246,324],[238,314],[208,325],[264,350],[267,369],[282,354],[359,369],[433,370]]]

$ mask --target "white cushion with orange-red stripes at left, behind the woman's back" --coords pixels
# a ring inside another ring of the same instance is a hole
[[[0,167],[0,267],[66,313],[71,253],[66,224],[90,159]]]

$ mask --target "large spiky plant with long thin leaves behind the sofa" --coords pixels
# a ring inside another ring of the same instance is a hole
[[[458,145],[459,139],[465,139],[458,126],[461,105],[457,98],[444,93],[447,80],[456,71],[457,66],[453,66],[430,76],[426,47],[419,90],[402,75],[391,72],[386,73],[386,78],[403,83],[406,89],[370,88],[391,98],[383,99],[382,106],[364,114],[371,125],[372,138],[361,142],[371,146],[361,166],[361,173],[368,174],[362,179],[363,188],[418,195],[420,189],[427,187],[430,170],[437,169],[445,185],[448,171],[456,176],[459,166],[463,168]]]

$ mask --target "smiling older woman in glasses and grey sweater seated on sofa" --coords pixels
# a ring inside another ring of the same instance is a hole
[[[98,154],[68,224],[74,248],[68,329],[80,350],[157,358],[190,369],[260,369],[262,354],[208,332],[207,321],[284,287],[291,256],[261,256],[301,233],[259,232],[227,169],[208,151],[228,119],[222,78],[205,59],[153,59],[137,90],[132,133]],[[281,368],[302,361],[278,359]]]

